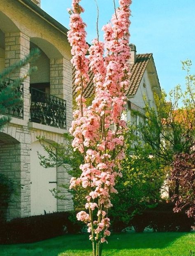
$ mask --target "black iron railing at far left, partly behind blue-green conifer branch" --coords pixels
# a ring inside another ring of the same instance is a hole
[[[5,81],[0,82],[0,93],[7,88],[7,86],[14,83],[14,80],[12,79],[6,79]],[[16,87],[13,91],[13,94],[19,94],[21,95],[21,98],[23,98],[23,84]],[[20,104],[14,105],[13,107],[10,107],[7,109],[7,112],[5,113],[9,116],[14,116],[17,118],[23,119],[23,102]]]

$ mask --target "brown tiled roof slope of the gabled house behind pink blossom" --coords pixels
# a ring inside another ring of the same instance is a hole
[[[137,92],[137,89],[139,87],[139,84],[142,80],[142,77],[144,75],[144,72],[146,70],[146,67],[152,58],[152,54],[137,54],[136,55],[136,62],[131,66],[131,73],[130,73],[130,84],[129,88],[127,90],[126,95],[135,95]],[[75,81],[75,69],[73,69],[73,88],[72,93],[75,96],[76,95],[76,86],[74,84]],[[84,89],[84,97],[85,98],[91,98],[94,95],[94,86],[93,86],[93,72],[89,71],[89,83]]]

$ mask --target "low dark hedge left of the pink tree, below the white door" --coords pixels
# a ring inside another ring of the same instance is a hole
[[[31,243],[64,233],[78,233],[83,224],[75,216],[75,212],[56,212],[1,223],[0,244]]]

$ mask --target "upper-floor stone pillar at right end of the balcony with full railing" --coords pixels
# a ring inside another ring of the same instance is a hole
[[[66,100],[66,123],[72,123],[72,65],[65,58],[50,60],[50,93]]]

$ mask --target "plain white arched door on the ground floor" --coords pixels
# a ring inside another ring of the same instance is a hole
[[[40,165],[37,151],[46,156],[39,141],[31,144],[30,151],[30,199],[31,215],[39,215],[57,211],[57,200],[49,191],[57,188],[56,167],[44,168]],[[45,212],[44,212],[45,211]]]

